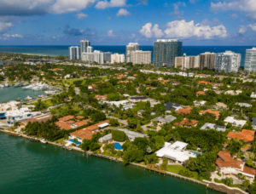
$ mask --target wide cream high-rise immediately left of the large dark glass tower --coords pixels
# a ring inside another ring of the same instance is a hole
[[[151,63],[151,51],[136,50],[131,51],[132,64],[150,64]]]

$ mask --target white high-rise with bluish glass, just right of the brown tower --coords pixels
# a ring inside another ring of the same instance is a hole
[[[231,51],[216,55],[216,71],[237,72],[241,64],[241,54]]]

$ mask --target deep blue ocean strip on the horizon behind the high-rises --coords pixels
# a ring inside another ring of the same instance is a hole
[[[0,46],[0,52],[20,53],[20,54],[39,54],[57,56],[68,56],[68,47],[70,46]],[[92,46],[94,50],[101,50],[102,52],[112,52],[125,54],[125,46]],[[251,46],[183,46],[183,54],[198,55],[205,52],[223,53],[226,50],[231,50],[235,53],[241,54],[241,66],[244,66],[246,49]],[[140,46],[143,51],[152,51],[153,60],[153,46]]]

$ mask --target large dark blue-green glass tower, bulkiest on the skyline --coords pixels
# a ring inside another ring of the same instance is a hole
[[[159,39],[154,42],[154,66],[175,66],[175,57],[182,56],[183,43],[177,39]]]

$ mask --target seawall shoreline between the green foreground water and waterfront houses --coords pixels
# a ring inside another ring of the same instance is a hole
[[[9,130],[6,130],[6,129],[0,129],[0,132],[2,132],[4,134],[14,135],[16,137],[22,137],[22,138],[26,138],[28,140],[34,141],[34,138],[28,137],[26,134],[19,134],[19,133],[16,133],[16,132],[13,132],[13,131],[9,131]],[[37,142],[42,143],[42,142],[40,142],[39,139],[37,139]],[[82,149],[77,148],[77,147],[70,147],[70,149],[68,149],[65,145],[56,144],[56,143],[51,142],[51,141],[48,141],[48,144],[61,147],[61,148],[65,149],[65,150],[67,149],[69,151],[79,151],[79,152],[83,153],[83,157],[84,157],[84,153],[85,153],[86,157],[94,156],[94,157],[100,157],[100,158],[103,158],[103,159],[108,159],[109,161],[115,162],[115,163],[121,163],[122,162],[122,159],[118,159],[116,157],[108,157],[108,156],[105,156],[105,155],[102,155],[102,154],[94,154],[91,151],[83,151]],[[138,164],[138,163],[129,163],[129,164],[131,164],[132,166],[139,167],[139,168],[144,168],[144,170],[148,169],[149,172],[151,172],[151,170],[152,170],[152,171],[154,171],[154,173],[162,174],[162,173],[160,173],[158,171],[155,171],[154,169],[147,168],[146,165],[142,165],[142,164]],[[212,190],[215,190],[215,191],[219,191],[219,192],[223,192],[223,193],[231,193],[230,191],[234,191],[234,193],[238,193],[238,194],[247,194],[246,191],[241,191],[240,189],[235,188],[235,187],[234,188],[233,187],[228,187],[228,186],[226,186],[224,184],[212,183],[212,182],[210,182],[208,180],[202,180],[202,182],[201,182],[200,180],[193,180],[191,178],[182,176],[180,174],[174,174],[174,173],[167,172],[167,171],[165,171],[165,172],[166,172],[166,174],[164,174],[165,176],[166,175],[170,175],[170,176],[172,176],[174,178],[177,178],[177,179],[180,179],[180,180],[181,179],[182,180],[189,180],[189,182],[193,182],[193,183],[198,184],[198,185],[205,185],[206,189],[209,188],[209,189],[212,189]],[[226,188],[227,191],[224,191],[223,188]],[[221,189],[223,189],[223,190],[221,190]]]

